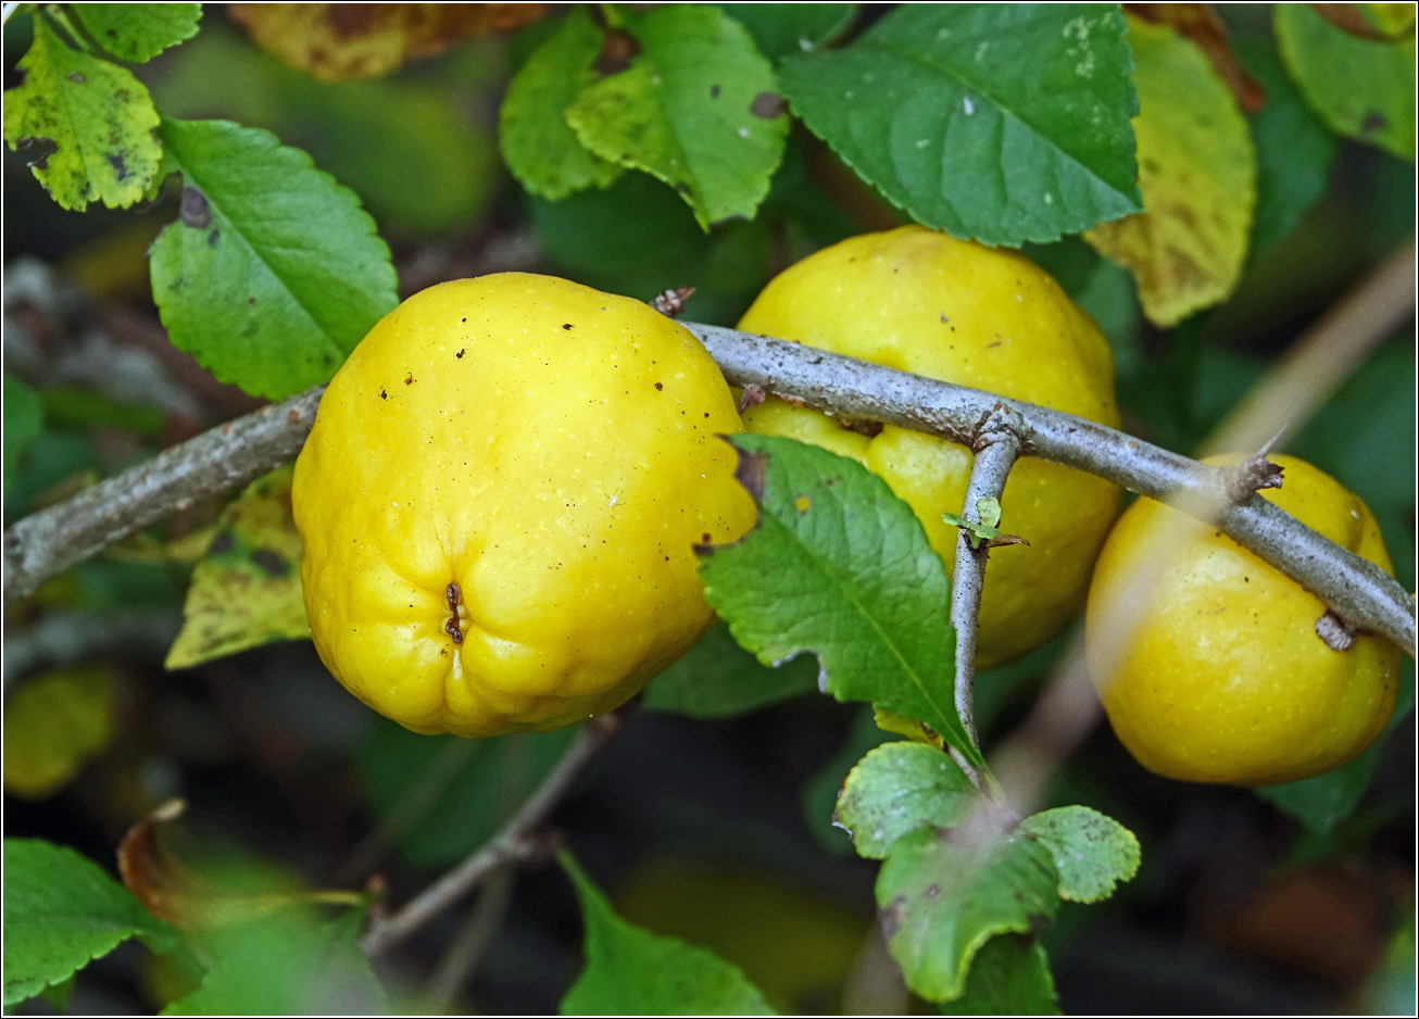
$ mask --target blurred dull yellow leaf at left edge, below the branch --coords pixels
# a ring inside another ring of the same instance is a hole
[[[4,708],[4,791],[44,799],[62,789],[114,738],[118,693],[105,666],[26,680]]]

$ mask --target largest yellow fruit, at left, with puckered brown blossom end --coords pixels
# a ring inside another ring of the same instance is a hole
[[[417,732],[552,729],[710,626],[697,542],[755,519],[683,326],[522,272],[431,287],[331,382],[295,466],[321,659]]]

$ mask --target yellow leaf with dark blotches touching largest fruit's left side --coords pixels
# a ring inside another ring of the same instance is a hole
[[[309,637],[301,593],[301,536],[291,519],[291,467],[253,481],[227,507],[192,573],[183,627],[167,668]]]

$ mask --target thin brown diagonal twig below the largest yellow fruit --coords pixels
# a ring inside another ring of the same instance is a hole
[[[481,849],[414,896],[404,908],[370,927],[360,941],[368,955],[380,955],[407,938],[460,898],[467,896],[492,871],[507,864],[536,859],[546,852],[545,840],[535,832],[570,791],[572,783],[602,748],[620,732],[620,712],[612,711],[586,724],[576,742],[562,755],[552,772],[542,779],[507,823]]]

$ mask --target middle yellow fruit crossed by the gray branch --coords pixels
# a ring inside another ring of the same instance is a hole
[[[1108,342],[1019,251],[924,227],[853,237],[779,274],[739,328],[1118,424]],[[961,512],[968,448],[891,424],[860,434],[775,399],[744,423],[816,443],[883,477],[951,569],[956,528],[941,514]],[[1077,615],[1118,495],[1117,485],[1069,467],[1033,458],[1015,466],[1000,527],[1030,544],[990,553],[979,667],[1029,651]]]

